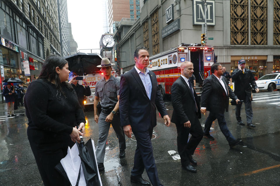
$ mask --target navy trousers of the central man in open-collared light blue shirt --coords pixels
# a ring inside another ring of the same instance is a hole
[[[146,169],[151,184],[153,186],[163,186],[158,178],[157,167],[155,166],[153,155],[153,146],[151,142],[153,128],[151,127],[145,132],[133,132],[133,134],[136,138],[137,146],[131,176],[140,177],[143,174],[144,169]]]

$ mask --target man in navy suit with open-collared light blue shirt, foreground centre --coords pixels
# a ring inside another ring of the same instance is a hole
[[[139,47],[134,52],[135,66],[120,78],[120,120],[127,137],[133,132],[137,141],[134,166],[130,182],[150,185],[142,178],[144,169],[153,186],[162,186],[157,174],[151,142],[153,128],[157,124],[156,108],[166,126],[170,119],[162,100],[155,73],[146,67],[149,65],[149,52]]]

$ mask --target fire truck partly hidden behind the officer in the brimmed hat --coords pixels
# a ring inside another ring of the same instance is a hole
[[[111,71],[112,76],[117,77],[116,71]],[[97,81],[101,80],[104,77],[103,73],[101,71],[97,71],[94,74],[88,74],[84,78],[88,81],[88,86],[90,86],[90,96],[84,96],[84,105],[92,105],[95,97],[95,85]],[[85,86],[85,83],[82,80],[79,80],[78,83],[80,85]]]

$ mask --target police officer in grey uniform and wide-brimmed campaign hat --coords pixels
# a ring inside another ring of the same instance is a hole
[[[111,75],[112,65],[108,58],[102,58],[101,68],[104,78],[99,80],[95,86],[94,99],[94,120],[98,123],[99,139],[96,147],[96,159],[99,171],[104,170],[105,146],[108,137],[110,125],[112,124],[115,133],[119,139],[120,158],[125,157],[125,134],[120,125],[119,110],[119,92],[120,81]],[[100,98],[101,113],[98,116],[97,105]]]

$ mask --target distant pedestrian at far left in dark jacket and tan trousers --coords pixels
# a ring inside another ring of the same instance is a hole
[[[15,90],[11,87],[10,83],[3,90],[3,95],[5,96],[5,102],[7,106],[8,117],[15,116],[14,114],[14,103],[15,103]]]

